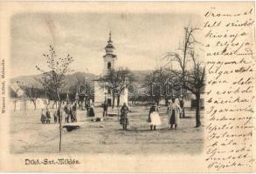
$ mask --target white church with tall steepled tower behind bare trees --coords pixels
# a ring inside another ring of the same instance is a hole
[[[107,88],[109,86],[106,83],[100,82],[100,79],[107,78],[109,76],[110,70],[114,70],[115,62],[117,60],[117,56],[114,55],[114,45],[111,40],[111,33],[109,33],[109,38],[107,41],[107,46],[105,47],[106,54],[103,56],[103,72],[99,77],[96,77],[94,80],[94,105],[101,105],[105,101],[110,106],[113,104],[113,95],[112,90]],[[120,104],[127,103],[128,104],[128,90],[125,89],[121,92],[120,96]],[[117,97],[114,99],[114,105],[117,104]]]

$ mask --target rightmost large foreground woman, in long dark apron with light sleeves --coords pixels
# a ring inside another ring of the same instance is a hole
[[[179,105],[176,104],[175,98],[171,99],[172,103],[170,104],[169,107],[169,124],[170,124],[170,129],[173,129],[173,125],[175,125],[175,129],[177,128],[177,124],[179,124],[179,118],[180,118],[180,108]]]

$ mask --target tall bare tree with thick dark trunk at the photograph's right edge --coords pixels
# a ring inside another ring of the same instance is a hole
[[[180,49],[182,53],[168,52],[166,57],[168,64],[176,62],[179,65],[180,71],[171,70],[181,79],[183,89],[190,90],[196,96],[196,127],[201,125],[200,121],[200,94],[204,87],[205,66],[195,55],[195,44],[199,43],[194,37],[194,32],[198,28],[184,28],[184,41]],[[200,44],[200,43],[199,43]],[[191,70],[188,64],[192,64]]]

